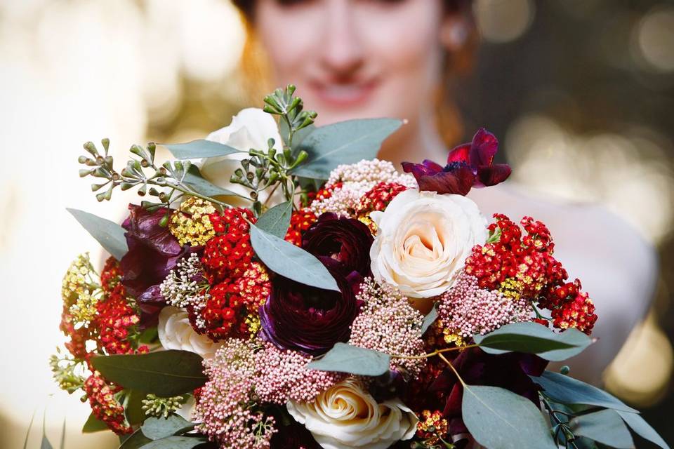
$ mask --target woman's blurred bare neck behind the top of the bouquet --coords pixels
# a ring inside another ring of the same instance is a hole
[[[416,120],[409,120],[383,143],[379,159],[391,161],[400,170],[404,161],[419,163],[430,159],[444,165],[447,159],[445,147],[430,111],[423,111]]]

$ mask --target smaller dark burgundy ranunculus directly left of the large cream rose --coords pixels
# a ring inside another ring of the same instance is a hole
[[[327,256],[340,262],[345,272],[369,276],[372,234],[364,223],[355,218],[324,213],[307,229],[302,248],[319,257]]]

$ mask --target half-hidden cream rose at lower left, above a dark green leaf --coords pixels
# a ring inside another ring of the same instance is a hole
[[[178,307],[166,306],[159,312],[159,342],[164,349],[182,349],[196,352],[201,357],[213,358],[222,343],[213,342],[206,335],[199,335],[187,315]]]

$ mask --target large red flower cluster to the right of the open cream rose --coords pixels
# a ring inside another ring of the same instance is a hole
[[[550,231],[539,221],[524,217],[522,229],[508,217],[495,214],[489,225],[489,243],[475,246],[465,261],[465,272],[473,275],[480,287],[500,290],[509,297],[527,297],[553,311],[557,328],[578,328],[590,333],[597,316],[580,282],[564,283],[569,277],[553,257],[555,245]]]

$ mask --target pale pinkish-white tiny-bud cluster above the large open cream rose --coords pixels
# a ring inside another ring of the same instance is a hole
[[[417,187],[414,176],[398,173],[391,162],[363,159],[358,163],[337,166],[332,170],[326,185],[334,186],[341,183],[341,187],[334,189],[329,198],[314,201],[310,209],[317,216],[324,212],[351,216],[362,196],[379,182],[396,182],[406,187]]]

